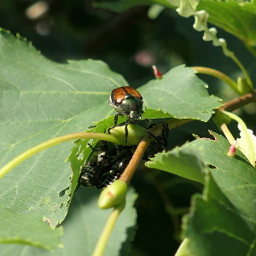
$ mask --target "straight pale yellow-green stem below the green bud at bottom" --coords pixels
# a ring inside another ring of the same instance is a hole
[[[125,208],[125,201],[119,207],[116,207],[113,209],[113,212],[111,212],[107,220],[107,223],[105,224],[105,227],[102,230],[102,234],[96,243],[96,247],[94,252],[92,253],[92,256],[101,256],[104,253],[104,250],[107,246],[108,238],[111,235],[114,224],[116,223],[119,217],[119,214],[124,210],[124,208]]]

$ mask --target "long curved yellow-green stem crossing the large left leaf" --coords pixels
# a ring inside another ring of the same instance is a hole
[[[61,137],[55,137],[46,141],[44,143],[38,144],[33,148],[29,148],[25,152],[16,156],[13,160],[10,160],[5,166],[0,169],[0,178],[3,177],[6,173],[8,173],[11,169],[15,166],[19,165],[22,161],[26,160],[27,158],[31,157],[33,154],[37,154],[38,152],[53,147],[60,143],[65,143],[67,141],[77,140],[77,139],[99,139],[105,140],[111,143],[120,143],[119,140],[114,138],[112,135],[107,133],[93,133],[93,132],[78,132],[73,134],[63,135]]]

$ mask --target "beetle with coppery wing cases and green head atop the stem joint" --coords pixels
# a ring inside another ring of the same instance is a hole
[[[117,113],[114,115],[114,125],[108,129],[113,129],[118,122],[119,115],[126,115],[125,122],[125,143],[127,142],[128,129],[127,125],[136,123],[142,117],[143,113],[143,96],[130,86],[119,87],[112,91],[109,96],[109,104]]]

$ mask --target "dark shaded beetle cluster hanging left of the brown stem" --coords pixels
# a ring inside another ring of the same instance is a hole
[[[105,189],[125,171],[132,156],[130,148],[99,141],[81,166],[79,185]]]

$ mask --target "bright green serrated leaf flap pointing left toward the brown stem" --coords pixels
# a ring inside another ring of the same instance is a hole
[[[175,148],[156,154],[146,166],[204,183],[203,172],[206,166],[201,161],[201,155],[201,148]]]

